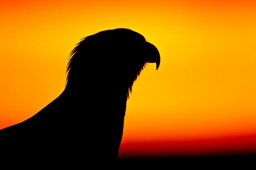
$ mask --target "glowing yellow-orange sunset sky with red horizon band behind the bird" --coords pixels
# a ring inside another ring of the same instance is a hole
[[[255,0],[1,0],[0,23],[0,129],[60,95],[81,38],[123,27],[161,63],[133,86],[119,158],[256,153]]]

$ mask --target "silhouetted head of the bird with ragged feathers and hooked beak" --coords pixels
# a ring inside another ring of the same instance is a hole
[[[84,85],[84,79],[93,87],[102,83],[105,87],[124,86],[128,99],[134,81],[147,63],[156,63],[156,70],[160,65],[157,48],[130,29],[101,31],[81,40],[69,55],[67,87]]]

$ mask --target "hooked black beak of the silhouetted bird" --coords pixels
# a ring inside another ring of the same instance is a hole
[[[145,62],[147,63],[156,63],[156,70],[158,69],[159,65],[160,65],[160,54],[158,49],[156,48],[156,46],[154,46],[153,44],[146,42],[145,45],[146,49],[145,49],[145,53],[146,53],[146,58],[145,58]]]

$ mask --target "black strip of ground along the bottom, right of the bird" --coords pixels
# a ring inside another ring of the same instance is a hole
[[[256,169],[256,154],[208,157],[173,158],[123,158],[119,159],[120,169]]]

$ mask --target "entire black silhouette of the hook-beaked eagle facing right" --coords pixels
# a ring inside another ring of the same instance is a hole
[[[71,51],[65,90],[24,122],[0,130],[3,160],[118,160],[126,101],[157,48],[130,29],[84,37]]]

